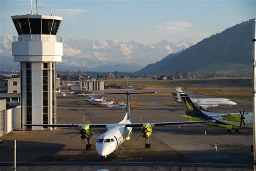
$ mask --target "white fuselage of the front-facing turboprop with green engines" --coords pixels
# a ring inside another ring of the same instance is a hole
[[[131,124],[130,120],[123,120],[119,124]],[[113,125],[107,128],[107,131],[100,135],[95,143],[96,152],[100,156],[107,156],[120,146],[125,139],[132,133],[131,127],[123,125]]]

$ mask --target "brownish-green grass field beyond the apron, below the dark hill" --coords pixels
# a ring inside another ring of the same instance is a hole
[[[196,94],[209,95],[212,97],[225,98],[252,98],[251,78],[244,79],[183,79],[183,80],[153,80],[153,79],[109,79],[106,84],[118,85],[122,87],[132,87],[137,90],[174,90],[175,87],[182,87],[183,90]],[[202,84],[203,86],[200,86]],[[209,86],[207,86],[209,85]],[[217,85],[212,87],[211,85]],[[220,88],[221,86],[237,86],[236,88]],[[241,86],[241,88],[239,88]],[[144,94],[146,95],[146,94]],[[170,93],[151,94],[156,96],[170,96]]]

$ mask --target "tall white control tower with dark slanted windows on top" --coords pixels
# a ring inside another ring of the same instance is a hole
[[[32,11],[32,8],[31,8]],[[11,16],[18,36],[12,42],[14,61],[21,69],[21,129],[42,130],[23,124],[56,124],[56,62],[62,61],[62,17]]]

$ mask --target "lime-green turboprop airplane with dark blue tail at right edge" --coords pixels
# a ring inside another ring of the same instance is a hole
[[[186,94],[180,94],[180,98],[185,109],[185,115],[181,115],[184,118],[190,119],[190,121],[199,120],[215,120],[214,123],[204,123],[205,125],[218,126],[226,128],[227,132],[231,132],[232,129],[235,132],[240,132],[243,128],[253,128],[253,114],[245,113],[245,110],[241,113],[212,113],[199,110]]]

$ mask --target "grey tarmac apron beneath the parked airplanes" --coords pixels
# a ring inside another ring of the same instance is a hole
[[[122,90],[104,91],[120,92]],[[122,91],[125,92],[125,91]],[[158,93],[174,93],[174,90],[156,90]],[[187,92],[193,97],[205,97]],[[107,101],[124,95],[107,95]],[[131,100],[143,104],[143,108],[131,108],[132,122],[188,121],[181,117],[183,106],[174,101],[172,95],[131,95]],[[232,99],[238,105],[210,107],[210,112],[252,111],[251,99]],[[124,101],[125,102],[125,101]],[[115,124],[124,118],[125,111],[87,104],[84,97],[70,95],[57,98],[57,124]],[[150,138],[152,149],[145,149],[144,138],[136,139],[140,129],[134,129],[131,139],[119,148],[120,154],[107,156],[100,162],[95,151],[97,137],[106,129],[93,129],[90,139],[91,151],[77,129],[57,128],[53,131],[14,131],[1,137],[0,170],[13,170],[14,139],[17,140],[18,170],[253,170],[251,148],[252,129],[227,133],[226,129],[203,124],[153,127]],[[205,135],[205,132],[207,135]],[[215,145],[218,151],[214,151]]]

